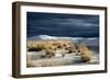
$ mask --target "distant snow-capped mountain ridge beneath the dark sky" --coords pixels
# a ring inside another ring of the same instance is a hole
[[[63,37],[63,36],[50,36],[50,35],[37,35],[37,36],[32,36],[28,37],[28,41],[57,41],[57,39],[67,39],[67,41],[73,41],[75,43],[82,42],[86,43],[87,45],[99,45],[99,37]]]

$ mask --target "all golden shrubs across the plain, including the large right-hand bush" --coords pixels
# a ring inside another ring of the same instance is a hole
[[[55,56],[55,53],[53,50],[57,50],[57,49],[68,50],[67,54],[76,53],[77,50],[78,53],[80,53],[84,61],[88,61],[90,59],[88,47],[84,43],[78,43],[78,45],[75,46],[75,44],[73,44],[70,41],[28,42],[29,52],[45,50],[45,56],[42,56],[42,57],[51,58]]]

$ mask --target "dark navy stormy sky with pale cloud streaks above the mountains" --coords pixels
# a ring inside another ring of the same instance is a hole
[[[28,12],[26,25],[28,37],[99,37],[99,15]]]

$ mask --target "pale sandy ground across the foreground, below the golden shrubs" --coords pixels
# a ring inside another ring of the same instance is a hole
[[[68,66],[68,65],[94,65],[99,64],[98,54],[90,52],[91,59],[89,62],[82,62],[80,56],[66,54],[65,57],[41,58],[44,53],[28,52],[28,67],[53,67],[53,66]]]

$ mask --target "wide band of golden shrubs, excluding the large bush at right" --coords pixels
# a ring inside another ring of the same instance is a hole
[[[65,49],[67,54],[75,52],[75,46],[70,41],[42,41],[42,42],[28,42],[29,52],[45,52],[46,57],[55,56],[54,50]],[[64,57],[64,54],[62,54]],[[44,57],[44,56],[43,56]]]

